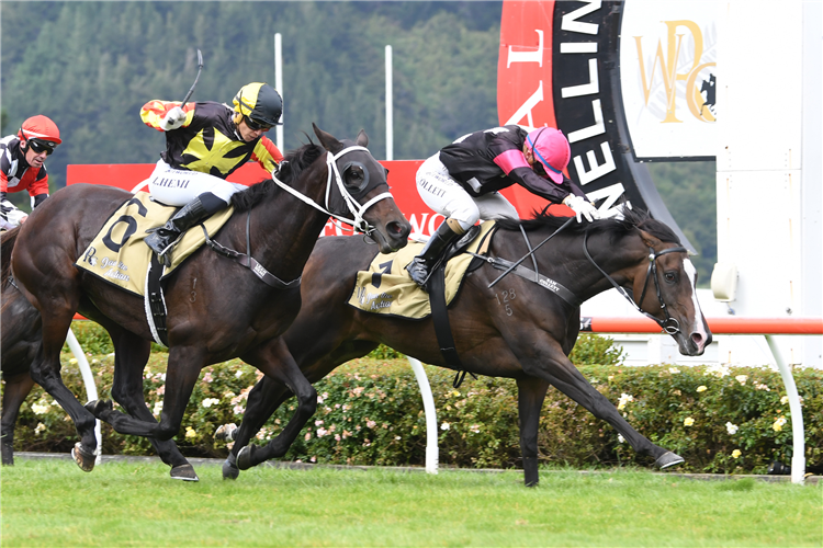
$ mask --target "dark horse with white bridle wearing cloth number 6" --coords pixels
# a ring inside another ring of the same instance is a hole
[[[139,356],[115,363],[115,384],[120,383],[124,398],[142,392],[143,366],[153,339],[143,298],[75,267],[104,221],[131,194],[72,185],[34,209],[23,225],[11,267],[42,318],[42,345],[31,374],[75,422],[80,442],[72,456],[81,469],[93,469],[95,416],[123,434],[169,441],[180,429],[201,369],[234,357],[297,395],[300,404],[284,437],[293,439],[312,416],[316,392],[280,335],[300,309],[301,274],[317,237],[329,215],[364,231],[382,252],[406,246],[410,231],[387,192],[386,170],[365,148],[365,133],[360,132],[357,142],[340,141],[317,126],[314,133],[322,146],[309,138],[286,155],[277,178],[233,196],[235,215],[210,246],[217,252],[199,249],[168,278],[169,358],[159,423],[145,403],[145,412],[134,403],[126,408],[133,416],[113,410],[111,401],[83,407],[59,375],[60,347],[79,310],[109,331],[115,355]]]

